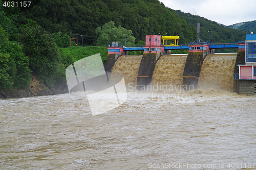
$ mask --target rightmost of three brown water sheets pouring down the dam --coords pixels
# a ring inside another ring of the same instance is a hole
[[[237,53],[209,54],[204,59],[198,87],[233,91]]]

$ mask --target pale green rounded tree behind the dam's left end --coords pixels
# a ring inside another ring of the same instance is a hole
[[[132,30],[127,30],[121,26],[116,27],[114,21],[109,21],[105,23],[102,28],[98,27],[96,29],[96,34],[99,36],[97,39],[98,45],[106,45],[109,41],[119,41],[126,45],[130,45],[135,42],[135,37],[132,36]],[[125,34],[125,35],[124,35]]]

